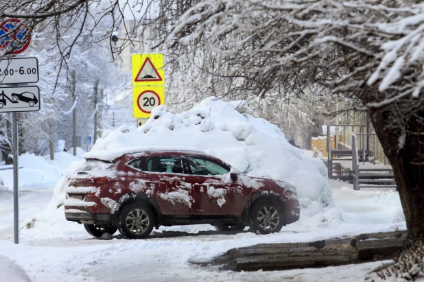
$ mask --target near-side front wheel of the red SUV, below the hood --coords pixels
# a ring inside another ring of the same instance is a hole
[[[272,200],[259,200],[249,211],[250,231],[256,234],[280,232],[285,223],[283,207]]]

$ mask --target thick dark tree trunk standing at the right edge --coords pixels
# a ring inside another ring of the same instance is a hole
[[[410,107],[399,102],[375,110],[370,119],[393,167],[408,228],[408,244],[416,244],[424,235],[424,110],[405,117],[399,108],[405,110],[407,105]]]

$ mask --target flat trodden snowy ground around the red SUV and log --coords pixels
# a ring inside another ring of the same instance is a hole
[[[67,237],[29,236],[23,233],[19,246],[11,233],[0,231],[0,255],[15,260],[34,281],[361,281],[381,262],[333,268],[278,272],[221,272],[189,261],[208,261],[228,249],[274,242],[310,242],[358,233],[404,229],[396,222],[400,202],[392,191],[353,191],[351,185],[330,182],[335,205],[342,209],[342,222],[290,224],[281,233],[172,236],[156,233],[147,240],[98,240],[81,225]],[[21,219],[43,209],[51,190],[34,191],[21,197]],[[12,219],[10,195],[0,193],[0,229]],[[34,206],[33,206],[34,205]],[[26,215],[26,216],[25,216]],[[394,222],[395,221],[395,222]],[[12,222],[12,221],[10,221]],[[9,228],[9,227],[6,227]],[[161,230],[195,231],[210,226],[173,226]],[[9,233],[9,234],[7,234]]]

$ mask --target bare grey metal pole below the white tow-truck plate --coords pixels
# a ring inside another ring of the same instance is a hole
[[[18,194],[18,116],[13,113],[13,233],[14,244],[19,244],[19,194]]]

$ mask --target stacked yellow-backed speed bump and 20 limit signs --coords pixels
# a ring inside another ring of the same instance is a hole
[[[163,54],[132,54],[132,108],[137,126],[149,119],[152,109],[165,104]]]

